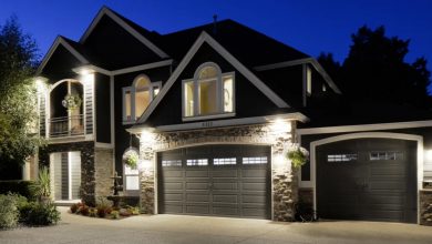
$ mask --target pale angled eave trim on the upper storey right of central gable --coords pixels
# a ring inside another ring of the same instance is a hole
[[[306,63],[312,64],[315,70],[317,70],[317,72],[321,74],[321,77],[329,84],[329,87],[331,89],[333,89],[333,91],[336,93],[341,94],[341,91],[335,84],[335,82],[330,78],[330,75],[326,72],[326,70],[321,67],[321,64],[313,58],[306,58],[306,59],[298,59],[298,60],[278,62],[278,63],[270,63],[270,64],[266,64],[266,65],[259,65],[259,67],[255,67],[254,70],[256,70],[256,71],[266,71],[266,70],[274,70],[274,69],[280,69],[280,68],[286,68],[286,67],[294,67],[294,65],[299,65],[299,64],[306,64]]]

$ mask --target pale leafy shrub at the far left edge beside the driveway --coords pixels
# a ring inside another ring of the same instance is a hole
[[[0,195],[0,228],[16,227],[18,220],[17,199],[12,194]]]

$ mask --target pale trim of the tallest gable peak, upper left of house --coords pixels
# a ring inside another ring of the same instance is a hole
[[[84,34],[80,39],[80,43],[84,43],[85,40],[89,38],[89,35],[92,33],[92,31],[95,29],[97,23],[101,21],[102,17],[109,17],[113,21],[115,21],[119,26],[121,26],[124,30],[126,30],[128,33],[131,33],[133,37],[135,37],[138,41],[141,41],[143,44],[145,44],[148,49],[151,49],[154,53],[156,53],[161,59],[169,58],[168,54],[166,54],[164,51],[162,51],[158,47],[156,47],[150,39],[148,35],[151,35],[150,31],[145,30],[142,27],[138,27],[133,21],[122,17],[121,14],[114,12],[107,7],[102,7],[102,9],[99,11],[96,17],[93,19],[92,23],[89,26],[89,28],[85,30]]]

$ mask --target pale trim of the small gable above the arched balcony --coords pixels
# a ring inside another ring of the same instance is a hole
[[[64,37],[56,37],[54,43],[51,45],[50,50],[47,52],[47,54],[43,57],[41,64],[38,68],[37,75],[39,75],[43,68],[47,65],[48,61],[50,60],[51,55],[55,52],[55,50],[59,48],[59,45],[63,45],[72,55],[74,55],[82,64],[89,64],[89,59],[84,57],[82,53],[83,50],[78,50],[78,45],[75,45],[74,41],[66,39]]]

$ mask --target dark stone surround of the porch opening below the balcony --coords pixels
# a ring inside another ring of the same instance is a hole
[[[39,166],[50,166],[50,153],[81,152],[81,199],[89,205],[95,204],[94,142],[48,144],[39,149]]]

